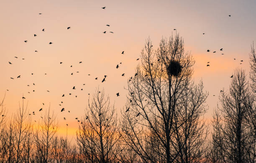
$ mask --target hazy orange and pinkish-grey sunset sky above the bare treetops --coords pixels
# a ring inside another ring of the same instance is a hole
[[[5,95],[7,116],[16,112],[24,96],[29,112],[36,112],[33,120],[51,106],[59,134],[65,134],[69,124],[73,139],[78,126],[74,118],[84,116],[88,94],[95,88],[105,89],[120,115],[127,79],[135,74],[146,38],[156,50],[161,38],[182,36],[185,51],[196,61],[193,79],[202,80],[209,92],[205,114],[209,120],[234,69],[245,69],[248,75],[248,54],[256,39],[255,0],[0,0],[0,4],[0,99]],[[40,108],[43,111],[38,112]]]

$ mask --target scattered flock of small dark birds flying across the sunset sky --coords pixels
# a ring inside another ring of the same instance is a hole
[[[105,10],[106,9],[106,7],[102,7],[102,9],[103,10]],[[42,15],[42,13],[39,13],[39,15]],[[231,16],[231,15],[228,15],[229,17]],[[106,26],[108,26],[108,27],[110,27],[110,25],[109,24],[107,24]],[[71,27],[67,27],[67,30],[70,30],[71,29]],[[177,29],[174,29],[174,31],[175,30],[177,30]],[[43,32],[45,32],[45,28],[43,28],[42,29],[42,31]],[[104,31],[103,33],[106,33],[107,31]],[[110,33],[113,33],[112,31],[110,31]],[[205,33],[202,33],[203,35],[205,35]],[[36,37],[37,35],[36,34],[34,34],[34,37]],[[24,41],[25,43],[28,43],[28,40],[25,40]],[[51,44],[53,44],[53,42],[49,42],[49,44],[51,45]],[[223,48],[220,48],[220,51],[223,51]],[[38,51],[35,51],[35,52],[38,52]],[[207,52],[210,52],[210,50],[208,49],[207,50]],[[216,51],[213,51],[213,53],[216,53]],[[124,51],[122,51],[120,54],[125,54],[124,53]],[[222,55],[224,55],[224,53],[222,53]],[[15,56],[15,58],[16,59],[18,59],[18,57],[16,57]],[[22,58],[23,60],[24,60],[24,58]],[[139,59],[136,59],[136,61],[138,61]],[[236,59],[235,59],[236,60]],[[241,60],[241,62],[243,62],[243,60]],[[8,63],[9,64],[13,64],[13,63],[11,63],[10,61],[8,61]],[[60,64],[62,64],[63,62],[60,62]],[[78,61],[78,64],[82,64],[82,61]],[[117,64],[117,66],[115,67],[116,69],[118,69],[119,67],[120,67],[120,64],[122,64],[122,62],[120,62],[119,64]],[[242,64],[242,63],[240,63],[240,64]],[[207,62],[207,67],[208,66],[210,66],[210,61],[209,62]],[[70,67],[72,67],[72,65],[70,66]],[[79,71],[77,71],[77,73],[79,73]],[[33,73],[31,74],[31,75],[33,75]],[[47,74],[44,74],[44,75],[47,75]],[[71,75],[73,75],[73,73],[71,73]],[[88,74],[89,76],[90,76],[90,74]],[[137,73],[135,74],[135,76],[136,75],[138,75]],[[125,74],[121,74],[121,76],[125,76]],[[21,77],[21,75],[18,75],[17,76],[17,79],[18,78],[20,78]],[[232,76],[230,76],[230,78],[232,78],[233,77],[233,75]],[[106,82],[106,78],[107,78],[107,75],[104,75],[104,78],[102,79],[102,83],[103,82]],[[13,78],[13,77],[10,77],[10,79],[15,79],[15,78]],[[98,77],[96,77],[95,78],[95,80],[98,80],[99,78]],[[132,79],[132,77],[130,77],[130,79],[129,79],[129,81],[131,81],[131,79]],[[33,85],[35,86],[36,84],[35,83],[33,83]],[[85,85],[85,84],[83,84],[83,85]],[[28,87],[30,86],[30,85],[27,85]],[[77,89],[75,86],[74,87],[72,87],[72,89]],[[81,89],[81,90],[83,90],[83,89]],[[8,89],[7,89],[7,91],[9,91]],[[33,90],[33,92],[35,92],[35,90]],[[47,92],[50,92],[49,90],[47,90]],[[223,92],[222,90],[220,91],[220,92]],[[28,92],[28,93],[30,93],[30,92]],[[100,93],[100,92],[99,92]],[[69,95],[72,95],[71,93],[69,93]],[[90,95],[90,94],[89,94]],[[62,94],[61,95],[61,97],[64,97],[65,96],[65,94]],[[116,96],[118,97],[118,96],[120,96],[120,93],[118,92],[118,93],[116,93]],[[215,95],[213,95],[213,96],[215,96]],[[77,97],[77,95],[75,95],[75,97]],[[22,99],[26,99],[25,97],[22,97]],[[131,101],[130,101],[131,102]],[[61,104],[63,104],[63,101],[61,101]],[[59,106],[61,106],[61,104],[59,104]],[[44,105],[44,103],[43,103],[43,105]],[[125,111],[125,112],[128,112],[129,111],[129,109],[130,109],[130,107],[128,107],[128,109]],[[43,108],[40,108],[39,109],[39,112],[41,112],[43,110]],[[61,110],[60,110],[61,112],[64,112],[65,111],[65,108],[63,107]],[[70,112],[69,110],[68,110],[68,112]],[[35,113],[35,111],[33,111],[32,112],[32,114],[33,115],[35,115],[36,113]],[[29,113],[29,115],[31,115],[31,113]],[[138,117],[140,115],[140,113],[138,113],[137,115],[136,115],[136,117]],[[4,116],[4,115],[2,115],[2,116]],[[41,118],[43,118],[43,117],[41,117]],[[86,116],[86,119],[88,119],[88,116]],[[66,120],[66,118],[64,117],[64,120]],[[76,117],[75,118],[75,120],[77,120],[78,122],[80,122],[80,120],[78,120],[78,118]],[[35,121],[36,122],[36,121]],[[82,123],[82,122],[81,122]],[[66,124],[67,126],[68,126],[68,124]]]

